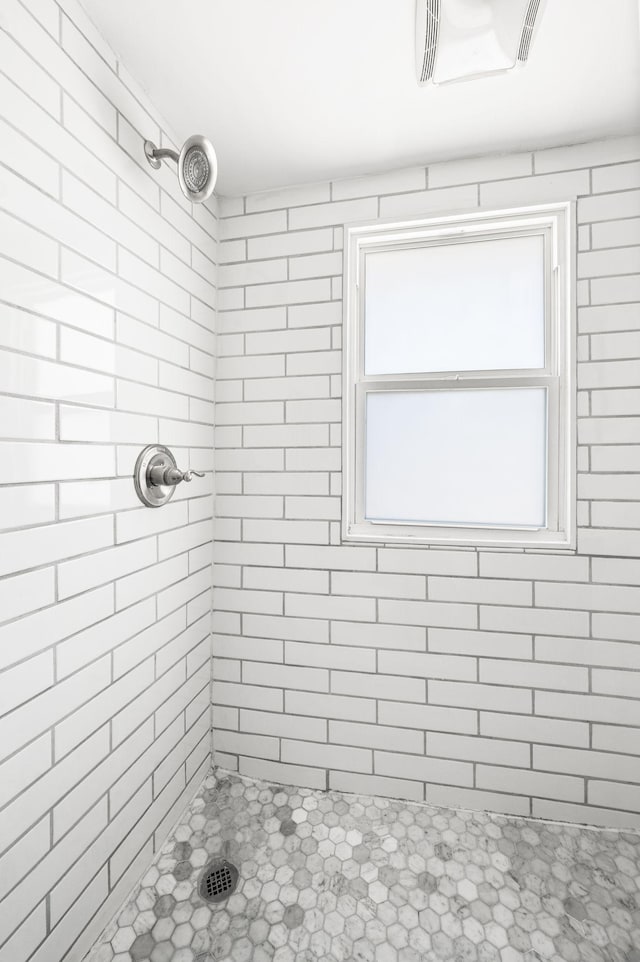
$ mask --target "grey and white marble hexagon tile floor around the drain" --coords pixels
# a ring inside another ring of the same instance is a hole
[[[640,962],[640,836],[218,772],[87,962],[447,959]]]

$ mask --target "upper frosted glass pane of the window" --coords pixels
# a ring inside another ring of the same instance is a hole
[[[365,373],[544,366],[543,238],[366,258]]]

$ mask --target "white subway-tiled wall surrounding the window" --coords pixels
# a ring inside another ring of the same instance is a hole
[[[221,764],[640,825],[639,188],[624,138],[222,202]],[[577,552],[341,544],[342,225],[575,198]]]

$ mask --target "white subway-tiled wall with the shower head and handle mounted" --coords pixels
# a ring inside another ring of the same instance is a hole
[[[209,765],[216,218],[72,0],[0,28],[0,959],[76,962]]]

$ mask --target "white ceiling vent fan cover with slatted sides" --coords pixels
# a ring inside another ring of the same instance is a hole
[[[545,0],[416,0],[419,84],[445,84],[526,63]]]

